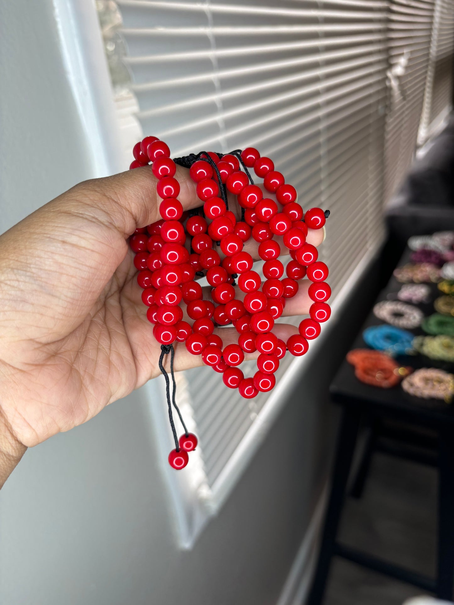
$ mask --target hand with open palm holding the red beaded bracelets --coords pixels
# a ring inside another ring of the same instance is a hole
[[[177,168],[183,208],[197,208],[195,184]],[[233,199],[229,208],[240,216]],[[156,178],[144,167],[81,183],[0,237],[0,485],[26,447],[86,422],[159,374],[160,345],[127,241],[159,218]],[[309,230],[309,243],[322,238]],[[257,249],[245,244],[256,260]],[[284,315],[309,312],[307,291],[300,282]],[[273,331],[286,340],[297,329]],[[237,341],[233,327],[215,332],[224,344]],[[175,370],[202,365],[184,344],[175,352]]]

